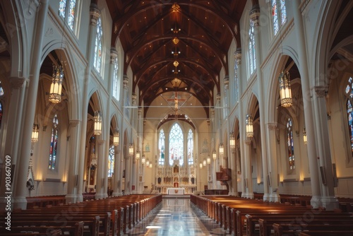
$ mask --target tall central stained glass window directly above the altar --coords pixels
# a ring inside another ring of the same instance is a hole
[[[179,124],[175,123],[169,134],[169,165],[173,165],[174,160],[179,160],[179,165],[184,164],[184,138]]]

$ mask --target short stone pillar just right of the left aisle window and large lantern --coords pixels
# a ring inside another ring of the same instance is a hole
[[[67,194],[65,196],[66,203],[76,203],[77,198],[77,187],[78,187],[78,146],[79,146],[79,139],[78,136],[80,135],[80,121],[73,119],[70,121],[68,126],[68,138],[71,141],[68,141],[68,176],[67,176]]]

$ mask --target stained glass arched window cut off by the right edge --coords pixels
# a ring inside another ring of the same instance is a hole
[[[347,97],[346,109],[347,109],[347,126],[349,131],[349,145],[351,157],[353,157],[353,78],[349,77],[345,88],[345,95]]]

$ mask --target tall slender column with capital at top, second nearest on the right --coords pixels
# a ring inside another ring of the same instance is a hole
[[[255,36],[255,45],[257,48],[261,47],[260,40],[260,6],[254,5],[250,11],[250,18],[253,20],[254,25],[254,36]],[[258,110],[260,112],[260,131],[261,131],[261,160],[263,165],[263,200],[269,200],[268,194],[268,160],[266,155],[266,129],[265,129],[265,96],[263,95],[263,74],[261,71],[261,50],[256,49],[256,77],[258,82]]]

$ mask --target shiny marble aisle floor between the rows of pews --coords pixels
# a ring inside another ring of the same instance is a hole
[[[190,199],[163,199],[126,235],[229,235]]]

